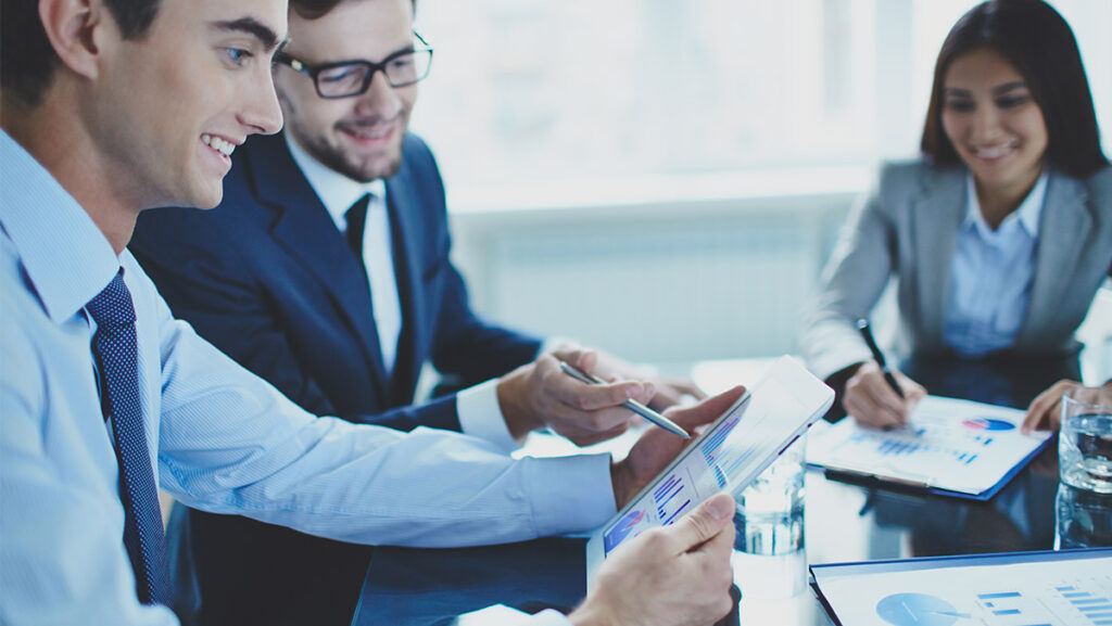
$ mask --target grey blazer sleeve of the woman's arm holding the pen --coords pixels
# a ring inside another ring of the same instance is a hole
[[[884,207],[884,178],[882,171],[882,182],[851,211],[818,294],[803,316],[800,349],[822,379],[872,358],[856,320],[868,317],[894,268],[895,236]]]

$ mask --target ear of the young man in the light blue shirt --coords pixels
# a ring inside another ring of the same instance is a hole
[[[102,0],[39,0],[39,19],[62,64],[87,78],[98,73],[106,38],[119,38]]]

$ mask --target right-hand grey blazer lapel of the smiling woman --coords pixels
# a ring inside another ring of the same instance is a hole
[[[1086,210],[1086,197],[1081,181],[1051,172],[1039,223],[1031,305],[1015,338],[1019,346],[1053,325],[1063,290],[1070,286],[1069,277],[1074,275],[1086,238],[1092,233],[1093,218]]]

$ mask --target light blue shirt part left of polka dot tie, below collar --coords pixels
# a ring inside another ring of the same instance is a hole
[[[178,624],[139,604],[115,486],[95,478],[95,450],[64,409],[48,413],[41,355],[10,312],[0,307],[0,624]],[[86,424],[107,439],[97,417]]]

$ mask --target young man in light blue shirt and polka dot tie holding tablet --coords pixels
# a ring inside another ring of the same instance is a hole
[[[652,429],[616,464],[513,460],[464,435],[300,410],[175,320],[125,251],[141,210],[215,206],[229,152],[280,127],[270,59],[286,3],[4,0],[2,12],[0,622],[175,624],[155,484],[339,539],[463,545],[596,526],[681,449]],[[119,328],[130,339],[103,339]],[[738,395],[671,415],[692,429]],[[718,497],[631,544],[570,622],[721,617],[732,514]]]

